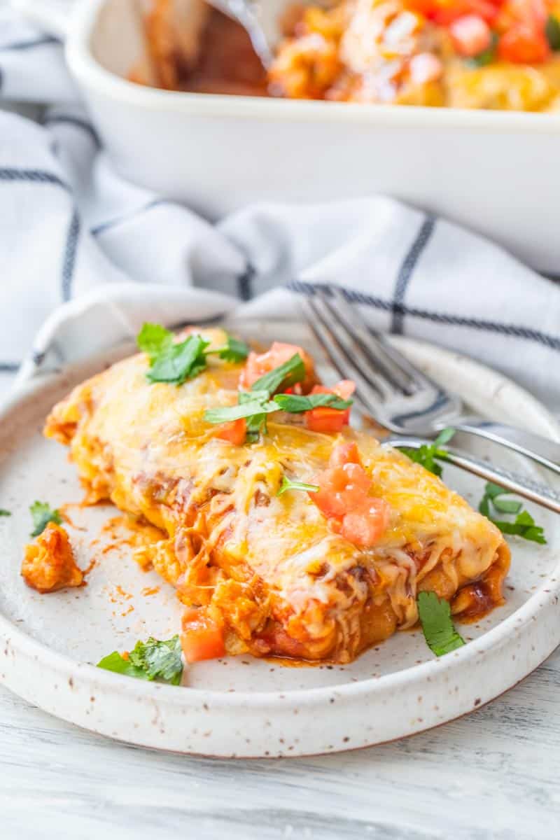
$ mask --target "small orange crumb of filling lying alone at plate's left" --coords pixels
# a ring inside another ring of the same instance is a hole
[[[21,574],[28,586],[43,594],[83,585],[84,573],[76,565],[65,528],[48,522],[35,542],[25,547]]]

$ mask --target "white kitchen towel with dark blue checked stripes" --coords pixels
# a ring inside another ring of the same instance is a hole
[[[1,369],[50,370],[144,320],[293,317],[314,284],[338,284],[376,328],[470,354],[560,408],[560,286],[386,197],[255,204],[211,225],[123,181],[71,102],[60,46],[0,20],[3,92],[55,102],[42,125],[0,112]]]

